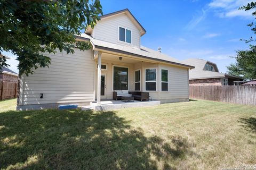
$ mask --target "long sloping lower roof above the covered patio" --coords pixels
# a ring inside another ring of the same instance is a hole
[[[93,48],[97,50],[107,50],[110,52],[121,53],[124,55],[132,55],[135,57],[147,58],[149,60],[155,60],[158,62],[165,62],[167,64],[174,64],[174,65],[179,65],[183,67],[188,67],[190,69],[194,68],[194,66],[185,64],[182,61],[179,61],[173,57],[170,57],[168,55],[157,52],[156,50],[153,50],[147,47],[141,46],[141,48],[139,49],[131,46],[123,46],[123,45],[118,45],[114,43],[109,43],[107,41],[94,39],[90,35],[86,35],[85,33],[82,33],[81,36],[77,36],[77,38],[80,38],[83,40],[89,40],[93,45]]]

